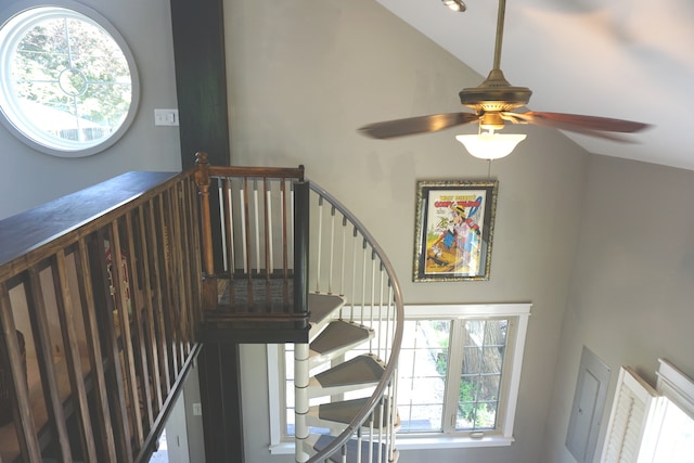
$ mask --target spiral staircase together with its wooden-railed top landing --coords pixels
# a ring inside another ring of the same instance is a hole
[[[294,344],[297,463],[397,460],[402,298],[383,249],[300,167],[213,167],[204,154],[198,166],[203,217],[217,200],[221,236],[204,265],[203,338],[260,330]]]

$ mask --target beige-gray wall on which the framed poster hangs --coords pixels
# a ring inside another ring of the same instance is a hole
[[[356,129],[461,111],[458,91],[481,76],[370,0],[230,0],[224,9],[232,164],[305,164],[307,176],[344,202],[384,247],[407,304],[534,305],[516,442],[403,451],[401,461],[539,461],[588,155],[556,132],[523,127],[528,139],[491,166],[500,182],[491,280],[412,283],[416,180],[486,178],[487,163],[463,151],[455,130],[374,141]],[[264,357],[260,346],[242,350],[246,459],[290,462],[293,455],[268,452]]]

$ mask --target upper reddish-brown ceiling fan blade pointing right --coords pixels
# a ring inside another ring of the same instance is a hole
[[[564,114],[564,113],[504,113],[509,115],[510,119],[517,118],[526,124],[535,124],[538,126],[553,127],[562,130],[581,131],[605,131],[605,132],[622,132],[633,133],[641,131],[647,127],[648,124],[634,123],[632,120],[613,119],[609,117],[597,116],[583,116],[580,114]]]

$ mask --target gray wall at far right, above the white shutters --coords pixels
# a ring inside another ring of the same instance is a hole
[[[655,384],[657,359],[665,358],[694,377],[694,172],[593,156],[588,178],[547,463],[575,461],[564,440],[583,345],[612,369],[603,428],[619,365]]]

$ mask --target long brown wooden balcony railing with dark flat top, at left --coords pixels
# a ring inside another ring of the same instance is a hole
[[[151,453],[200,348],[196,197],[130,172],[0,221],[2,462]]]

